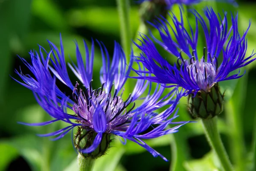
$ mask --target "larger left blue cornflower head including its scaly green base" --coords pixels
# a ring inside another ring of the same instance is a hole
[[[85,157],[97,158],[103,155],[111,142],[110,135],[113,134],[125,139],[124,143],[126,139],[129,139],[148,150],[154,157],[160,156],[167,160],[142,139],[152,139],[175,133],[181,125],[187,123],[172,122],[177,117],[177,111],[172,117],[169,117],[175,111],[182,92],[178,92],[175,88],[166,96],[160,98],[163,95],[164,87],[157,85],[156,90],[151,93],[151,82],[137,80],[130,96],[127,99],[122,99],[122,91],[124,91],[124,84],[131,72],[132,61],[130,61],[129,66],[126,65],[125,54],[121,46],[115,43],[111,62],[104,44],[99,41],[97,43],[102,52],[102,67],[100,70],[102,85],[95,90],[92,88],[93,42],[90,53],[84,42],[85,60],[83,60],[79,46],[76,43],[77,65],[74,63],[68,64],[78,81],[83,85],[80,90],[78,82],[72,83],[70,81],[62,41],[60,41],[60,50],[49,41],[50,52],[47,52],[41,46],[39,46],[39,52],[30,51],[32,64],[21,58],[33,76],[23,75],[21,71],[19,73],[16,70],[23,80],[23,82],[18,82],[32,90],[38,104],[54,119],[42,123],[22,124],[41,126],[57,121],[67,122],[69,126],[65,128],[38,136],[57,136],[53,139],[57,140],[76,127],[74,146]],[[70,88],[72,92],[70,95],[72,94],[73,98],[65,95],[57,87],[56,78],[64,86]],[[148,94],[143,98],[141,95],[147,91]],[[135,102],[141,99],[143,101],[140,106],[135,107]],[[154,112],[165,105],[169,105],[169,108],[158,114]],[[67,109],[71,112],[67,112]],[[169,124],[177,124],[177,126],[165,129]],[[151,130],[148,130],[148,128]]]

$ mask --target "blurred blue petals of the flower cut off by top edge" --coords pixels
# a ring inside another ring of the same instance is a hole
[[[144,1],[153,1],[155,3],[165,3],[166,6],[171,9],[173,5],[178,4],[178,5],[195,5],[198,3],[201,3],[203,1],[211,1],[211,0],[140,0],[139,2],[142,3]],[[224,3],[232,3],[234,6],[237,6],[236,0],[217,0],[220,2]]]

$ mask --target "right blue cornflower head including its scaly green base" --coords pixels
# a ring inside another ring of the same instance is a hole
[[[232,15],[231,26],[228,27],[226,12],[223,18],[208,7],[204,9],[204,16],[196,10],[192,13],[195,16],[193,20],[195,25],[191,26],[190,22],[188,28],[184,25],[181,10],[180,21],[174,14],[170,15],[172,25],[163,17],[154,24],[151,23],[160,33],[161,40],[153,35],[152,38],[167,52],[174,55],[177,63],[169,64],[157,51],[153,41],[146,35],[141,35],[142,44],[136,45],[142,53],[134,58],[148,71],[135,70],[139,76],[134,78],[147,79],[159,84],[171,84],[166,87],[182,87],[186,90],[185,96],[189,95],[189,110],[192,117],[213,117],[223,110],[224,94],[221,94],[218,82],[240,78],[243,74],[240,75],[236,70],[255,60],[252,58],[254,53],[245,58],[247,50],[245,36],[251,22],[247,30],[240,35],[238,14]],[[200,26],[205,38],[206,47],[204,48],[198,46]],[[193,30],[192,27],[195,29]]]

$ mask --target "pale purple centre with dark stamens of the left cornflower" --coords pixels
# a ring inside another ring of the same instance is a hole
[[[106,93],[103,91],[104,84],[97,90],[87,88],[85,91],[80,90],[78,92],[77,86],[73,91],[76,104],[73,105],[73,111],[79,117],[79,122],[82,123],[82,128],[87,130],[93,130],[93,115],[97,112],[104,112],[107,120],[106,132],[110,133],[111,130],[126,130],[128,128],[128,121],[133,113],[130,113],[134,108],[126,110],[129,104],[132,102],[132,97],[129,96],[126,101],[123,101],[120,96],[116,96],[117,92],[111,96],[111,90]],[[75,96],[76,94],[76,96]]]

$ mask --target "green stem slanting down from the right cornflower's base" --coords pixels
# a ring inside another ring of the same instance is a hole
[[[227,152],[224,145],[221,142],[221,137],[217,128],[217,117],[212,119],[203,119],[202,124],[204,126],[204,133],[212,149],[217,154],[217,157],[224,168],[224,171],[233,171],[233,166],[227,156]]]

